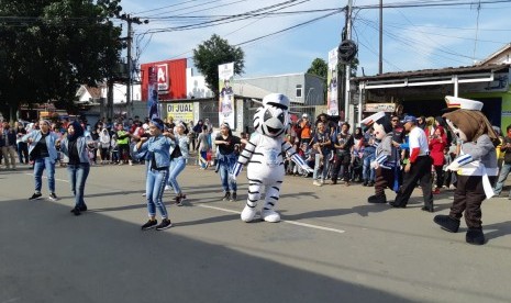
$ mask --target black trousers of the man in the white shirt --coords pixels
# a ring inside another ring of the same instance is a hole
[[[416,161],[411,165],[410,171],[404,175],[404,180],[401,189],[396,195],[395,204],[398,206],[406,206],[416,181],[420,181],[422,188],[422,197],[424,198],[424,206],[433,207],[433,192],[431,181],[431,165],[433,160],[430,156],[419,156]]]

